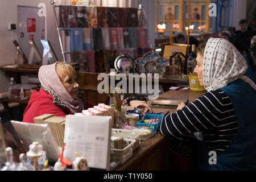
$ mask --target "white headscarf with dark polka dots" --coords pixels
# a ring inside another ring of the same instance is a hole
[[[241,53],[225,39],[210,38],[204,51],[203,79],[207,91],[223,88],[241,78],[256,90],[255,83],[243,76],[247,63]]]

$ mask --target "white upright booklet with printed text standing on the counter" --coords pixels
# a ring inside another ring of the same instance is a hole
[[[73,161],[78,152],[90,168],[109,170],[111,133],[109,116],[67,115],[64,158]]]

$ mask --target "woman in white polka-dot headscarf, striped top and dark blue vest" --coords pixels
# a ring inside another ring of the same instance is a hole
[[[245,59],[228,40],[210,38],[196,60],[208,92],[164,117],[160,133],[180,141],[195,136],[193,169],[255,170],[256,85],[244,75]]]

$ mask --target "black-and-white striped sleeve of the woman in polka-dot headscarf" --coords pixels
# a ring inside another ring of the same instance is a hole
[[[209,150],[224,151],[237,134],[238,122],[229,97],[221,90],[205,93],[191,104],[162,119],[160,134],[183,140],[203,131]]]

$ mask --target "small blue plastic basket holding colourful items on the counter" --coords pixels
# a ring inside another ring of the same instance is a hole
[[[137,124],[138,124],[139,128],[147,127],[150,130],[156,131],[158,129],[160,121],[163,117],[164,117],[164,115],[161,115],[161,114],[146,114],[146,115],[144,115],[143,118],[141,118],[141,120],[139,120],[137,122]],[[155,124],[144,123],[144,119],[158,119],[158,118],[159,118],[159,121]]]

